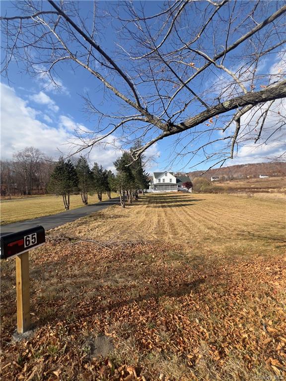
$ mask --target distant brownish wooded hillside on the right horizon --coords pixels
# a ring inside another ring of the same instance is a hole
[[[199,177],[204,171],[189,172],[188,176],[191,179]],[[204,175],[207,179],[212,176],[219,177],[220,181],[224,180],[237,180],[237,179],[253,179],[258,178],[259,175],[266,175],[269,177],[286,176],[286,163],[285,162],[271,162],[271,163],[255,163],[255,164],[241,164],[231,165],[229,167],[211,169]]]

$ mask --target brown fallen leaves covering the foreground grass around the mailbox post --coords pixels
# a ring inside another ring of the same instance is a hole
[[[231,358],[244,375],[261,367],[284,374],[285,261],[214,261],[207,253],[194,262],[162,242],[67,242],[51,237],[33,258],[38,328],[29,340],[10,342],[15,306],[1,290],[2,380],[184,380],[162,359],[198,377],[215,364],[218,379]],[[100,334],[114,342],[108,356],[92,355]]]

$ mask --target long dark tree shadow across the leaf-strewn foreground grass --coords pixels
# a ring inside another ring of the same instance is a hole
[[[50,262],[45,267],[49,269],[49,274],[54,274],[54,278],[57,276],[56,269],[61,268],[61,264],[63,264],[63,258],[59,262]],[[62,268],[62,271],[65,269]],[[80,320],[105,314],[106,311],[112,313],[113,310],[123,309],[132,304],[157,301],[161,297],[179,298],[189,295],[197,292],[200,285],[206,281],[205,278],[194,275],[194,279],[187,282],[186,278],[162,282],[162,279],[170,278],[170,271],[172,271],[171,268],[168,268],[162,269],[160,273],[149,271],[143,274],[139,270],[138,273],[135,271],[128,274],[126,269],[123,269],[122,273],[115,271],[114,274],[105,273],[100,276],[94,272],[93,268],[88,267],[82,268],[84,278],[62,277],[58,279],[58,282],[52,279],[50,283],[50,279],[42,273],[42,267],[37,266],[31,271],[31,277],[37,283],[38,279],[46,283],[44,290],[41,287],[43,290],[41,297],[33,293],[34,311],[32,312],[38,317],[38,326],[53,324],[69,317]],[[118,282],[117,275],[120,278],[126,276],[123,283]],[[148,277],[152,278],[151,283],[148,282]],[[142,282],[134,285],[138,278],[142,279]],[[39,285],[35,287],[39,288]]]

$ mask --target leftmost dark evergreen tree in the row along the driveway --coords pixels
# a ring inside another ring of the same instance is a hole
[[[51,175],[48,190],[50,193],[62,195],[65,209],[70,209],[70,194],[77,191],[78,179],[71,160],[65,162],[60,157]]]

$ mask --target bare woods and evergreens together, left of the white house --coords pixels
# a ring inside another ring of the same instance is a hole
[[[12,161],[1,161],[1,195],[11,198],[16,193],[31,195],[52,193],[63,197],[64,207],[70,208],[70,195],[80,194],[82,203],[87,205],[88,194],[111,192],[120,194],[120,204],[125,207],[126,201],[132,203],[138,199],[138,192],[148,187],[147,173],[143,168],[142,158],[133,161],[131,154],[124,152],[115,162],[116,174],[94,163],[90,168],[85,157],[65,160],[60,157],[57,162],[45,157],[34,147],[26,147],[13,155]]]

